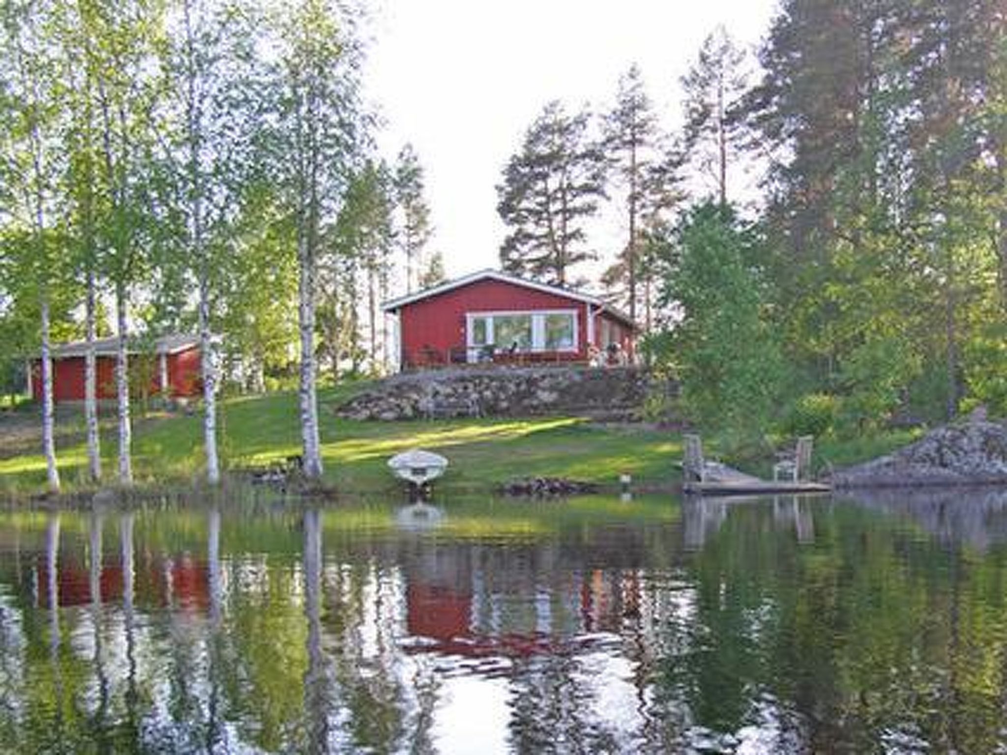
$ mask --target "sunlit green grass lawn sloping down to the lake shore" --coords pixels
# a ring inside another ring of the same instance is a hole
[[[511,479],[567,477],[614,485],[622,472],[648,487],[668,487],[680,479],[681,436],[646,426],[599,426],[571,417],[459,419],[413,422],[353,422],[337,419],[333,408],[357,387],[319,393],[324,484],[340,493],[392,494],[400,489],[386,465],[409,448],[437,451],[450,461],[438,482],[445,493],[481,494]],[[300,453],[297,396],[294,393],[241,397],[221,403],[221,456],[226,470],[268,466]],[[24,437],[25,423],[37,434],[34,408],[22,407],[16,424],[0,419],[0,497],[18,498],[45,486],[45,465],[37,438]],[[87,489],[83,416],[64,416],[57,433],[57,455],[67,492]],[[114,480],[114,412],[103,415],[104,469]],[[5,424],[6,423],[6,424]],[[8,432],[16,427],[20,432]],[[14,440],[16,437],[16,440]],[[866,439],[816,442],[816,466],[846,466],[902,446],[908,431]],[[705,439],[709,452],[717,438]],[[203,474],[202,425],[196,415],[151,415],[136,422],[133,445],[138,484],[187,485]],[[732,463],[731,458],[723,458]],[[765,474],[771,459],[741,460],[747,471]]]

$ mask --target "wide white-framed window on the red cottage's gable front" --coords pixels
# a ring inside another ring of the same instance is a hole
[[[468,346],[477,349],[576,351],[577,311],[473,312],[467,337]]]

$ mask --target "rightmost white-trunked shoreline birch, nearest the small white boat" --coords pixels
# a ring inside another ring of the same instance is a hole
[[[322,474],[318,433],[315,299],[323,226],[338,205],[357,133],[351,19],[326,0],[302,0],[276,20],[279,94],[276,172],[296,229],[303,471]]]

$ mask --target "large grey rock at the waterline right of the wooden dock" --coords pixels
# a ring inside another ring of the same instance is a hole
[[[887,456],[833,474],[835,487],[1007,483],[1007,427],[976,421],[939,428]]]

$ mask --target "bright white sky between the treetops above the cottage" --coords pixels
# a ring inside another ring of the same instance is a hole
[[[503,225],[494,186],[547,102],[610,106],[640,66],[667,128],[679,78],[718,23],[744,44],[767,31],[776,0],[381,0],[371,24],[368,97],[387,121],[383,152],[412,142],[426,171],[449,276],[497,267]]]

